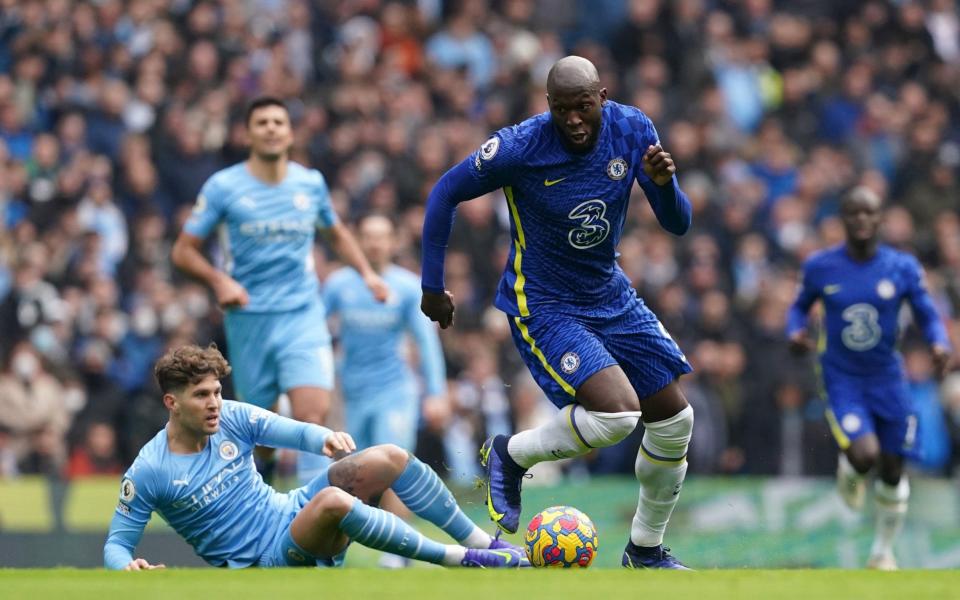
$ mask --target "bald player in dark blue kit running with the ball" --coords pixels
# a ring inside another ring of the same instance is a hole
[[[641,492],[622,564],[683,569],[662,541],[687,471],[693,410],[677,379],[691,369],[617,265],[616,247],[634,181],[671,233],[689,229],[690,203],[653,123],[608,100],[590,61],[568,56],[554,64],[547,100],[549,112],[496,132],[433,188],[421,308],[441,327],[452,324],[443,261],[456,205],[503,188],[513,244],[495,304],[560,411],[540,427],[484,444],[490,515],[516,531],[528,468],[616,444],[642,410]]]

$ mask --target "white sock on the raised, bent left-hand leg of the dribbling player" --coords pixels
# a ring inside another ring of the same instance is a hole
[[[630,435],[640,420],[640,411],[601,413],[579,404],[561,408],[539,427],[510,437],[507,452],[524,469],[538,462],[580,456],[594,448],[612,446]]]

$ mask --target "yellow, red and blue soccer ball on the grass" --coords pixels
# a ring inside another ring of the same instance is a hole
[[[527,558],[535,567],[589,567],[600,541],[590,517],[572,506],[551,506],[527,525]]]

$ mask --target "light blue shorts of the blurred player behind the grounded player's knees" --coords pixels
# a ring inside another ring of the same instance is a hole
[[[347,431],[357,449],[396,444],[413,451],[417,443],[420,397],[416,383],[381,386],[376,392],[343,392]]]

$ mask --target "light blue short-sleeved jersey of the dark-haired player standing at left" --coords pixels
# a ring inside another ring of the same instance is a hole
[[[270,185],[239,163],[207,180],[184,231],[206,238],[217,227],[223,268],[250,294],[242,310],[279,312],[317,300],[313,241],[336,220],[319,171],[290,162]]]

